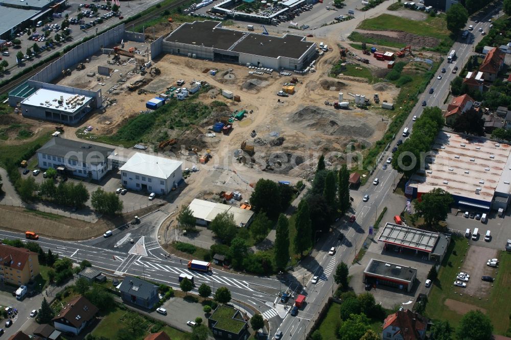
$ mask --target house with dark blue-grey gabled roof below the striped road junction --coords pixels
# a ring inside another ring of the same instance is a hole
[[[127,276],[119,289],[124,303],[151,309],[159,301],[158,286],[136,277]]]

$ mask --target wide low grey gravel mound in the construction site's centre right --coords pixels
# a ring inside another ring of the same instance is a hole
[[[306,106],[292,113],[289,122],[298,125],[298,129],[317,130],[331,136],[368,138],[375,132],[374,128],[360,117],[316,106]]]

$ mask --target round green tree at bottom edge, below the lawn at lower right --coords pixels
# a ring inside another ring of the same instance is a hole
[[[490,340],[493,338],[490,318],[480,310],[471,310],[461,318],[456,330],[460,340]]]

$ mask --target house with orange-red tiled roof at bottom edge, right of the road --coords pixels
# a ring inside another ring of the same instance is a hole
[[[409,309],[388,315],[383,322],[383,340],[424,340],[428,320]]]

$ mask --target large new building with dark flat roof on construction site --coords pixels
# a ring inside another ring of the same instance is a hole
[[[219,21],[206,20],[183,23],[165,38],[163,51],[274,70],[302,70],[315,57],[316,43],[293,34],[277,37],[225,29]]]

